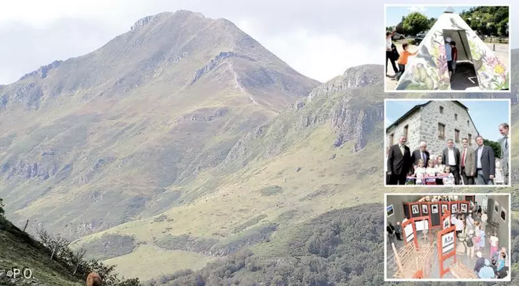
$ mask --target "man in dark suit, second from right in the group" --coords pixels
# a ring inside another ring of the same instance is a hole
[[[493,185],[495,176],[495,156],[491,146],[484,145],[483,137],[476,137],[476,164],[474,168],[476,185]]]

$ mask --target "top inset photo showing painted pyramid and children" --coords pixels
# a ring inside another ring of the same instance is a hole
[[[510,92],[509,6],[386,5],[385,92]]]

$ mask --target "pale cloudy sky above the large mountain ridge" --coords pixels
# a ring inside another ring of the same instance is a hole
[[[344,0],[3,2],[0,84],[13,83],[53,60],[94,51],[116,35],[129,31],[142,17],[176,10],[229,19],[298,72],[318,81],[327,81],[348,67],[384,64],[383,57],[379,56],[384,49],[385,31],[385,1],[382,0],[355,1],[355,4]],[[409,4],[409,9],[423,10],[417,6],[420,1],[400,0],[399,3]],[[475,5],[468,0],[456,3]],[[511,0],[500,1],[503,3],[511,3]],[[511,37],[518,35],[516,29],[511,28],[511,32]]]

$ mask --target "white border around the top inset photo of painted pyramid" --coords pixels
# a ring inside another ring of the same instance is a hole
[[[466,6],[508,6],[509,12],[508,12],[508,69],[509,72],[509,90],[387,90],[386,89],[386,73],[384,73],[384,92],[385,93],[511,93],[511,83],[512,83],[512,46],[511,46],[511,12],[510,12],[510,3],[502,3],[502,4],[421,4],[421,3],[409,3],[409,4],[384,4],[384,32],[386,31],[387,26],[387,10],[388,7],[411,7],[411,6],[425,6],[425,7],[452,7],[456,11],[456,13],[459,13],[458,10],[456,10],[456,7],[466,7]],[[439,17],[439,15],[438,15]],[[479,35],[478,35],[479,37]],[[382,37],[381,37],[382,38]],[[381,45],[381,47],[384,47],[384,51],[386,51],[386,39],[384,39],[384,44]],[[382,53],[381,53],[382,54]],[[386,53],[384,52],[384,67],[386,67]]]

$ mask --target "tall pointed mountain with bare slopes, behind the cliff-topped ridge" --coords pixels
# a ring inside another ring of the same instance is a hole
[[[0,88],[0,196],[70,238],[160,213],[317,84],[225,19],[146,17]]]

